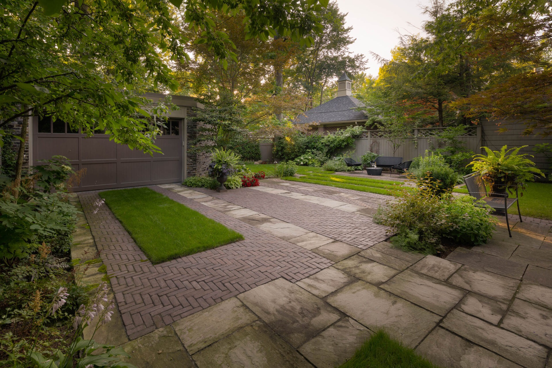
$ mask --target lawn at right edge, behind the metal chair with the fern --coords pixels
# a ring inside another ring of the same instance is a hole
[[[527,189],[523,192],[523,196],[519,198],[519,210],[521,214],[523,216],[552,220],[552,183],[529,182],[526,183],[526,187]],[[466,189],[465,185],[454,191],[468,194],[468,189]],[[510,197],[516,198],[516,194],[510,194]],[[517,206],[513,205],[510,207],[508,214],[517,215]]]

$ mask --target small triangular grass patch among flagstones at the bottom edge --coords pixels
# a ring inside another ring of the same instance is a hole
[[[375,333],[339,368],[438,368],[383,331]]]

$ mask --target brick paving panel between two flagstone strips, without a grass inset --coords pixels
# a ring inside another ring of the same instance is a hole
[[[290,190],[295,191],[295,189]],[[369,248],[389,237],[388,227],[377,225],[371,217],[351,214],[299,199],[247,188],[234,189],[225,193],[216,193],[203,188],[194,188],[194,190],[362,249]],[[309,194],[318,195],[317,192]]]

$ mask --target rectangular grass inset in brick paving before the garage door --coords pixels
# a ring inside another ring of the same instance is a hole
[[[154,264],[243,239],[149,188],[108,190],[100,196]]]

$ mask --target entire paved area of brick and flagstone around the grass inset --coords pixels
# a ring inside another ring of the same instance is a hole
[[[120,311],[97,337],[137,366],[334,367],[379,328],[442,367],[552,366],[550,221],[512,217],[512,238],[501,223],[442,259],[385,242],[370,217],[384,195],[150,188],[245,240],[152,265],[97,192],[79,194]]]

